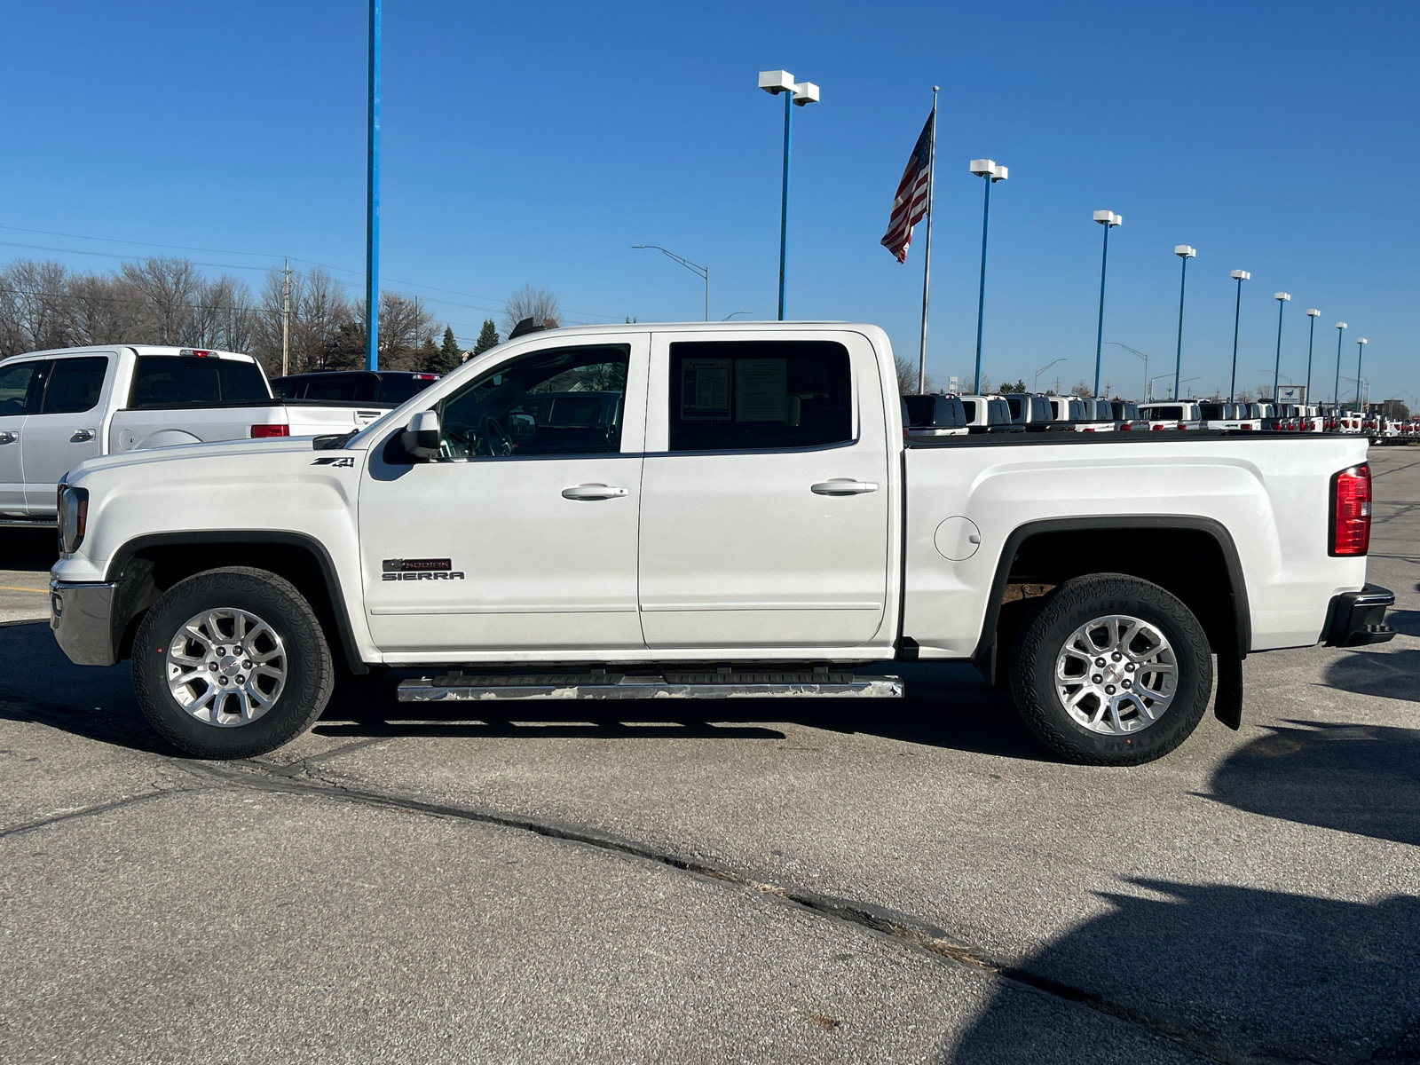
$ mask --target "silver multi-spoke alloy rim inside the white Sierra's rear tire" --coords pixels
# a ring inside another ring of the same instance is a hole
[[[1055,657],[1055,694],[1076,724],[1126,736],[1157,721],[1179,690],[1179,663],[1156,625],[1112,613],[1081,625]]]

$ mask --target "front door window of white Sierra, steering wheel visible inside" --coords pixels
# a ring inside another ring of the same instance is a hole
[[[554,348],[476,378],[439,405],[444,460],[621,450],[629,344]]]

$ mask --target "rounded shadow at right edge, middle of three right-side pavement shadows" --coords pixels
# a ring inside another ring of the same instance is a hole
[[[1207,798],[1235,809],[1420,846],[1420,731],[1288,721],[1240,747]]]

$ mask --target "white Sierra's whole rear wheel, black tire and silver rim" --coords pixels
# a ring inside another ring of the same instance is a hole
[[[1125,574],[1066,581],[1015,636],[1011,694],[1069,761],[1137,765],[1189,738],[1213,689],[1208,638],[1159,585]]]

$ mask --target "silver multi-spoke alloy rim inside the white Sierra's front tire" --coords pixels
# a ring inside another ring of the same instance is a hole
[[[247,611],[219,606],[193,615],[168,646],[168,690],[199,721],[250,724],[285,689],[281,638]]]

